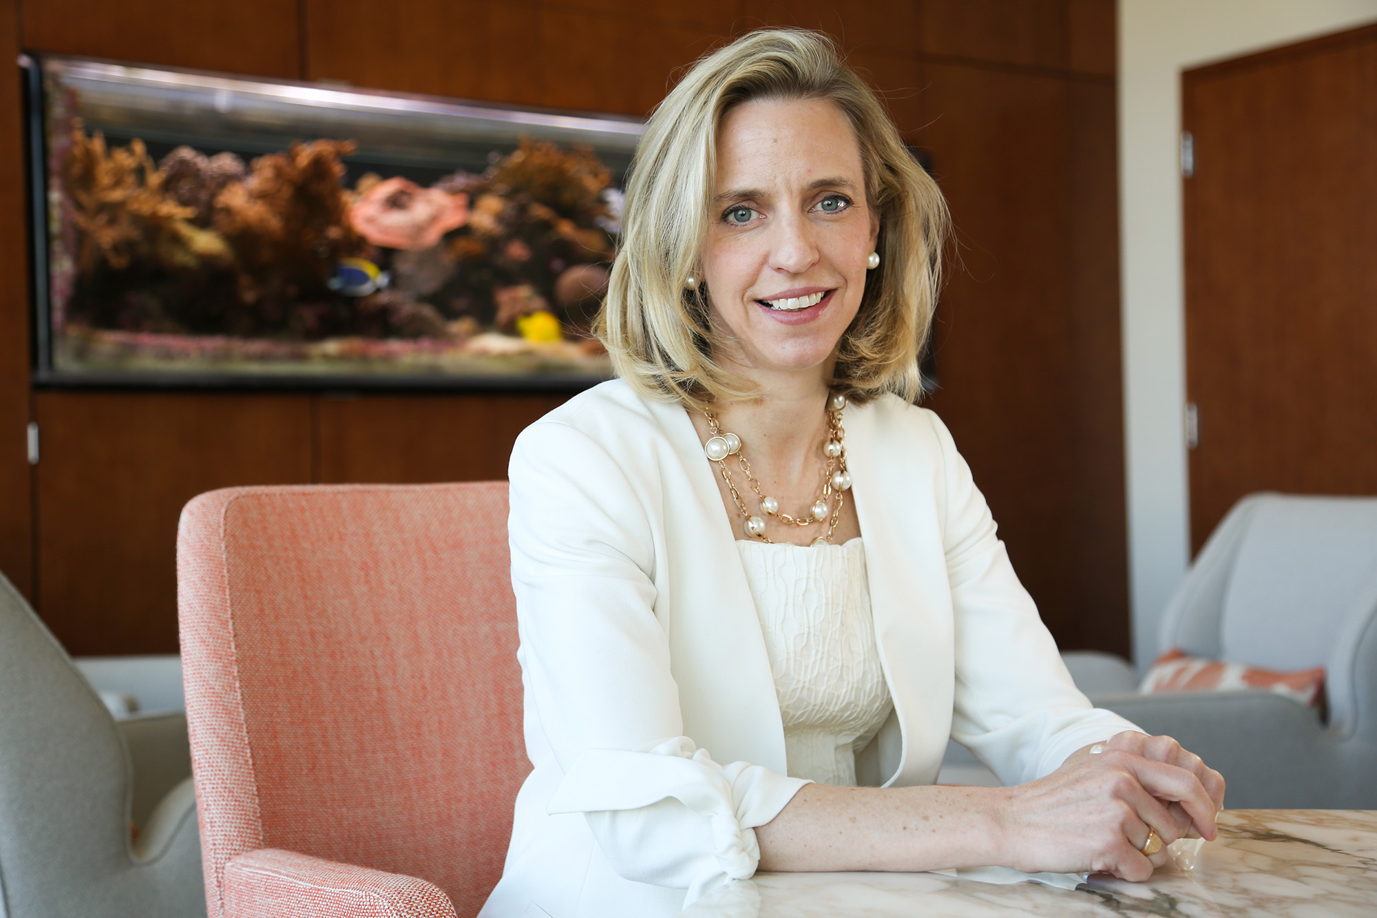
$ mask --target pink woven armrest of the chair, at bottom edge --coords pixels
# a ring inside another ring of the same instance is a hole
[[[291,850],[260,848],[224,866],[227,918],[456,918],[439,886]]]

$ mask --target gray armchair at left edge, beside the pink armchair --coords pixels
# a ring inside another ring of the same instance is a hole
[[[0,918],[205,915],[185,736],[116,722],[0,576]]]

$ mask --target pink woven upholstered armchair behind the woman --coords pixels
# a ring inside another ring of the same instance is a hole
[[[474,915],[530,765],[505,482],[233,488],[178,604],[211,918]]]

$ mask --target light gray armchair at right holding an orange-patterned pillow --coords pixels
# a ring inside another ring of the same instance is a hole
[[[1323,666],[1327,720],[1271,692],[1139,695],[1126,660],[1063,660],[1095,704],[1217,768],[1226,806],[1377,808],[1377,498],[1239,500],[1164,613],[1158,649],[1173,646],[1272,670]],[[956,743],[940,780],[997,784]]]

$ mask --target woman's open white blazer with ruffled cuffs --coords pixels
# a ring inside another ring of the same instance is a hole
[[[949,736],[1022,783],[1136,729],[1071,682],[938,416],[884,397],[843,423],[894,699],[861,783],[931,784]],[[739,524],[687,412],[621,380],[526,429],[509,476],[534,771],[481,915],[675,915],[752,875],[753,828],[807,783],[786,776]]]

